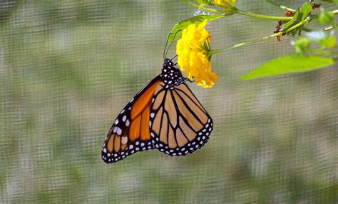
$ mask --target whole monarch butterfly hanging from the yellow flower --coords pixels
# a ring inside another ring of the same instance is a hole
[[[212,119],[173,58],[163,52],[160,75],[140,89],[114,121],[101,151],[105,163],[153,148],[172,156],[187,155],[208,141]]]

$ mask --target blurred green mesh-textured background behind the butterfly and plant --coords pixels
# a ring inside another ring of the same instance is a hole
[[[265,1],[238,7],[284,15]],[[189,85],[215,123],[200,151],[103,163],[111,123],[160,73],[172,26],[194,13],[174,0],[0,1],[0,203],[338,203],[337,66],[237,79],[292,53],[287,38],[215,55],[215,86]],[[276,25],[213,21],[211,46]]]

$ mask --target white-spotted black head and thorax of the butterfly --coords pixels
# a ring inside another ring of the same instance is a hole
[[[165,58],[162,66],[162,72],[160,74],[162,81],[167,85],[167,88],[173,88],[184,80],[182,72],[175,66],[172,59]]]

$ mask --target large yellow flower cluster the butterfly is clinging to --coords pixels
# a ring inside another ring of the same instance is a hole
[[[218,80],[211,69],[209,32],[204,28],[208,21],[200,25],[191,24],[183,30],[182,38],[176,46],[178,65],[185,71],[188,78],[194,79],[198,86],[210,88]]]

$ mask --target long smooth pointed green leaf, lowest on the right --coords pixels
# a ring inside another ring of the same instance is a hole
[[[324,68],[334,64],[334,59],[322,56],[290,55],[275,58],[272,61],[262,64],[240,79],[264,78],[277,76],[285,73],[299,73]]]

